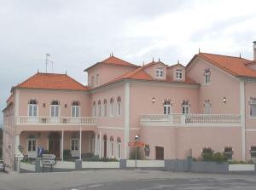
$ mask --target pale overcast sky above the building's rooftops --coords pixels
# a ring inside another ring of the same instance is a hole
[[[84,68],[110,52],[138,65],[152,57],[186,65],[199,48],[253,59],[255,8],[253,0],[0,0],[0,108],[13,85],[45,72],[46,53],[54,72],[81,83]]]

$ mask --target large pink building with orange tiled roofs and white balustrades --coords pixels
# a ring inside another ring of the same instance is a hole
[[[111,55],[88,72],[88,86],[67,74],[36,73],[11,89],[3,110],[3,159],[37,157],[38,147],[63,159],[92,153],[129,158],[135,135],[145,158],[186,158],[203,147],[232,149],[250,160],[256,148],[256,42],[254,60],[199,53],[187,66],[152,61],[136,66]],[[229,154],[230,155],[230,154]]]

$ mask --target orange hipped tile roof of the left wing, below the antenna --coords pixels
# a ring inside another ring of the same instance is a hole
[[[15,88],[27,89],[88,89],[82,83],[77,82],[67,74],[36,73],[31,78],[15,86]]]

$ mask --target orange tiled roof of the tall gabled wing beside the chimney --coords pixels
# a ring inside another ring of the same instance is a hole
[[[195,60],[195,57],[201,57],[203,60],[207,60],[214,66],[218,66],[218,68],[221,68],[225,72],[229,72],[236,77],[256,77],[256,71],[246,66],[246,63],[250,60],[241,57],[199,53],[190,60],[188,66]]]

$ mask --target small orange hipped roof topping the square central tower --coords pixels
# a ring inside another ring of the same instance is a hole
[[[94,66],[97,66],[99,64],[107,64],[107,65],[113,65],[113,66],[133,66],[133,67],[138,67],[138,66],[136,66],[134,64],[131,64],[131,63],[125,61],[125,60],[121,60],[118,57],[115,57],[115,56],[111,55],[106,60],[102,60],[100,62],[97,62],[93,66],[90,66],[87,69],[84,69],[84,72],[87,72],[88,70],[90,70],[90,68],[92,68]]]

